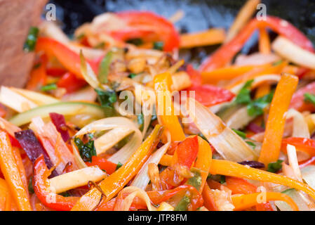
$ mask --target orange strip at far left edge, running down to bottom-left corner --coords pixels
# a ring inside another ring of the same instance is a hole
[[[21,211],[31,211],[27,190],[22,182],[18,165],[12,151],[12,146],[8,134],[0,131],[0,167],[1,172],[11,190],[15,203]]]

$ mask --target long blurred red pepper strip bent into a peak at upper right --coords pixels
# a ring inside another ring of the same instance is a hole
[[[286,20],[276,18],[274,16],[267,16],[265,20],[257,20],[256,18],[251,20],[246,27],[239,32],[234,39],[224,44],[220,49],[215,51],[212,56],[206,58],[201,64],[201,71],[211,71],[217,68],[221,68],[227,63],[229,63],[232,58],[238,53],[246,41],[249,39],[250,35],[253,34],[254,30],[257,28],[269,27],[274,32],[283,35],[284,37],[293,41],[293,43],[306,49],[308,51],[314,52],[313,44],[307,39],[307,37],[297,30],[292,24],[288,23]]]

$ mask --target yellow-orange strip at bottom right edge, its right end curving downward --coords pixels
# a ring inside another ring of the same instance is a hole
[[[234,211],[246,210],[249,207],[253,207],[258,203],[258,199],[260,195],[265,195],[266,202],[279,200],[288,203],[293,211],[299,211],[299,207],[295,204],[295,202],[288,195],[279,193],[279,192],[265,192],[265,193],[251,193],[247,195],[233,195],[232,203],[235,206]]]

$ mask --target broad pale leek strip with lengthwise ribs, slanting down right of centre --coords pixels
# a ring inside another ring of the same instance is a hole
[[[193,98],[189,98],[188,112],[196,127],[224,159],[233,162],[257,159],[256,153],[239,135]]]

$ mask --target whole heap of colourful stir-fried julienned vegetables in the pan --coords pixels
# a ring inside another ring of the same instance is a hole
[[[259,3],[227,32],[144,11],[73,39],[31,27],[29,82],[0,89],[0,210],[315,210],[314,48],[251,19]],[[255,30],[258,52],[240,54]],[[179,57],[212,44],[199,68]]]

